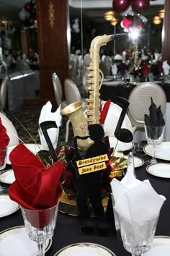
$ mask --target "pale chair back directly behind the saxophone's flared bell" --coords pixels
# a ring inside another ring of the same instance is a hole
[[[76,101],[81,101],[81,94],[79,92],[79,89],[71,79],[67,78],[64,81],[64,91],[67,105]]]

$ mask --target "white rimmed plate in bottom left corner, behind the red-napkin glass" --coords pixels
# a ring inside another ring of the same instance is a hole
[[[48,240],[45,251],[52,244]],[[0,255],[2,256],[37,256],[37,243],[30,240],[24,226],[6,229],[0,233]]]

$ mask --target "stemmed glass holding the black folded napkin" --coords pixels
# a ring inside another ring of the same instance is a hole
[[[153,156],[150,161],[146,161],[146,165],[157,163],[155,154],[156,154],[156,145],[161,144],[164,138],[164,128],[165,126],[161,127],[151,127],[145,125],[145,132],[146,132],[146,140],[149,145],[153,146]]]

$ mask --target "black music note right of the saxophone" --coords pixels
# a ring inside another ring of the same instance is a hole
[[[122,97],[117,97],[117,101],[115,103],[122,108],[122,112],[120,114],[120,118],[117,122],[117,127],[115,129],[115,137],[117,138],[117,140],[120,140],[122,142],[131,142],[133,140],[132,132],[130,132],[129,129],[121,128],[122,122],[125,119],[125,114],[128,111],[128,106],[130,103]]]

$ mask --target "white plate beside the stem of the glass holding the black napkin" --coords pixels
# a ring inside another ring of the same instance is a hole
[[[143,151],[147,155],[153,155],[153,146],[146,145],[143,147]],[[170,161],[170,142],[161,142],[160,145],[156,146],[156,158],[161,160]]]

